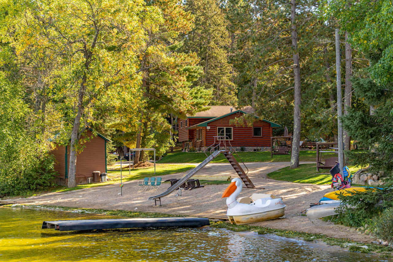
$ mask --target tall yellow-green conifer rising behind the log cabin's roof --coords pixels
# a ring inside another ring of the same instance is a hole
[[[195,52],[200,59],[203,74],[195,86],[213,90],[214,105],[237,104],[236,86],[231,81],[231,65],[228,63],[228,22],[215,0],[190,0],[185,10],[194,17],[193,29],[183,35],[184,52]]]

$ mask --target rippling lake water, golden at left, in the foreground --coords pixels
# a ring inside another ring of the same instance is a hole
[[[274,235],[210,227],[66,232],[41,229],[45,220],[101,218],[116,217],[0,208],[0,261],[390,261]]]

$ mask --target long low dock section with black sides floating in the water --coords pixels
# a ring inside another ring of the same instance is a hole
[[[116,229],[132,227],[201,227],[210,225],[208,218],[123,218],[44,221],[42,229],[59,231]]]

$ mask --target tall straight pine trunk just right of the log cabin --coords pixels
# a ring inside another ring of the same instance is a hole
[[[291,168],[299,166],[300,153],[300,63],[298,53],[298,33],[296,31],[296,0],[291,0],[291,38],[294,61],[294,134],[291,149]]]

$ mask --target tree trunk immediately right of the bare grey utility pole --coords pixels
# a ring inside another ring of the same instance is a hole
[[[348,32],[345,31],[345,90],[344,90],[344,116],[348,114],[347,107],[351,107],[352,97],[352,50],[348,42]],[[351,149],[351,138],[344,129],[344,146],[346,150]]]

